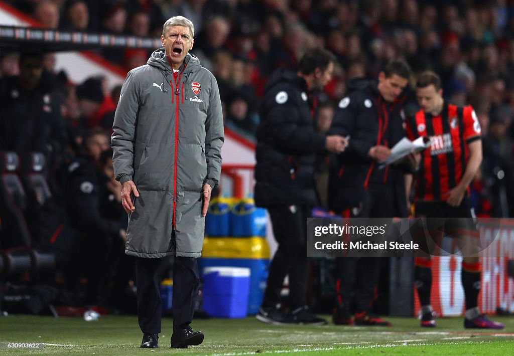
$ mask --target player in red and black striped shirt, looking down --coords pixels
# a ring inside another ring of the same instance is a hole
[[[465,328],[503,329],[479,313],[481,266],[476,252],[479,233],[469,201],[469,183],[482,162],[481,128],[471,106],[458,107],[443,99],[441,82],[436,73],[420,74],[416,96],[421,109],[408,119],[408,137],[429,137],[419,165],[415,184],[415,215],[427,217],[426,226],[418,225],[415,233],[425,236],[425,228],[436,240],[443,232],[456,237],[463,251],[461,281],[466,300]],[[435,220],[434,218],[446,218]],[[423,229],[423,230],[421,230]],[[423,235],[422,235],[423,234]],[[423,237],[425,238],[425,237]],[[473,255],[473,256],[470,256]],[[421,303],[421,326],[434,327],[430,305],[432,284],[430,255],[415,257],[415,286]]]

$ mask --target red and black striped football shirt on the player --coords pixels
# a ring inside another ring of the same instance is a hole
[[[421,153],[416,180],[416,200],[446,200],[446,194],[466,171],[468,144],[480,139],[480,124],[471,106],[444,103],[439,116],[419,110],[407,125],[407,136],[430,138],[431,145]]]

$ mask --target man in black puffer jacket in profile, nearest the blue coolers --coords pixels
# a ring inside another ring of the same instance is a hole
[[[317,202],[316,154],[341,153],[346,141],[341,136],[316,132],[316,98],[310,98],[308,93],[323,89],[331,78],[334,62],[332,53],[310,50],[300,60],[298,73],[279,70],[265,87],[255,153],[255,203],[267,208],[279,244],[256,315],[265,323],[326,324],[306,307],[307,218]],[[289,314],[277,308],[286,275]]]

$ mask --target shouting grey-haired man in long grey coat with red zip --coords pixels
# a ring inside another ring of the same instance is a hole
[[[156,270],[174,255],[171,346],[204,341],[193,332],[197,259],[211,191],[221,173],[221,100],[212,73],[189,54],[194,27],[182,16],[164,23],[162,47],[128,72],[111,139],[121,203],[129,214],[125,253],[136,257],[142,348],[157,348],[161,299]]]

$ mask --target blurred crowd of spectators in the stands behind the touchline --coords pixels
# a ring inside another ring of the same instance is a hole
[[[329,128],[333,108],[344,97],[347,83],[353,78],[376,78],[392,58],[404,58],[410,64],[414,70],[412,83],[417,73],[434,70],[442,79],[445,99],[459,105],[471,104],[482,126],[484,162],[471,184],[476,212],[479,216],[514,216],[514,185],[510,184],[514,179],[514,3],[511,1],[23,0],[6,3],[46,28],[152,38],[160,36],[167,18],[174,15],[190,18],[195,26],[191,53],[217,79],[226,126],[249,140],[254,140],[259,125],[260,99],[267,78],[278,67],[297,68],[298,59],[306,49],[325,47],[339,62],[332,80],[318,93],[320,130]],[[48,120],[44,128],[49,130],[45,136],[48,141],[34,146],[37,140],[29,138],[23,141],[25,146],[20,145],[14,139],[19,127],[11,125],[10,132],[2,133],[0,150],[42,151],[49,155],[53,170],[49,180],[53,182],[55,194],[62,196],[64,176],[69,175],[63,172],[68,171],[77,157],[88,157],[101,166],[100,156],[91,155],[84,138],[92,135],[91,130],[96,130],[93,134],[98,135],[111,133],[120,87],[108,88],[101,77],[71,83],[64,71],[56,70],[54,53],[28,54],[32,59],[39,55],[41,63],[31,60],[27,53],[0,53],[0,82],[8,83],[9,88],[0,93],[0,99],[4,102],[14,98],[13,90],[38,92],[42,100],[50,95],[51,105],[46,104],[51,112],[43,105],[38,113],[46,115]],[[107,48],[99,50],[99,54],[128,71],[145,64],[150,52]],[[22,82],[30,84],[38,66],[42,71],[36,85],[14,88],[17,84],[10,82],[11,76],[19,76]],[[27,95],[26,100],[30,105],[35,99]],[[54,106],[58,109],[53,109]],[[23,113],[13,111],[12,114],[19,117]],[[35,130],[35,136],[40,134],[41,130]],[[122,232],[117,233],[123,237]]]

